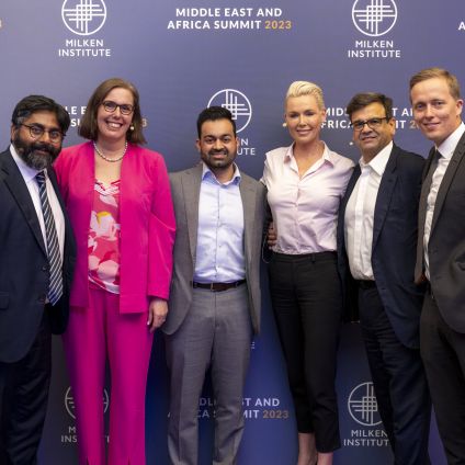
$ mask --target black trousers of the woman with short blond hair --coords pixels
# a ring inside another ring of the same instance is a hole
[[[270,293],[297,429],[319,452],[340,447],[334,388],[341,288],[334,252],[273,253]]]

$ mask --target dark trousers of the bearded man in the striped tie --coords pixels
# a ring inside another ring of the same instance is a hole
[[[52,373],[52,332],[44,314],[27,354],[0,363],[0,465],[35,465]]]

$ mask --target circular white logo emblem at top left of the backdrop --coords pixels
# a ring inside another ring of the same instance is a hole
[[[103,0],[65,0],[61,19],[72,33],[92,35],[105,24],[106,5]]]

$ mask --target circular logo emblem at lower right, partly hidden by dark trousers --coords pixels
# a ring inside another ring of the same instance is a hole
[[[352,389],[348,399],[350,416],[364,427],[376,427],[381,423],[373,383],[362,383]]]

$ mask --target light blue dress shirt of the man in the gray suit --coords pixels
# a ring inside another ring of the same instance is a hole
[[[239,183],[236,165],[232,179],[220,183],[203,163],[194,271],[197,283],[232,283],[246,277]]]

